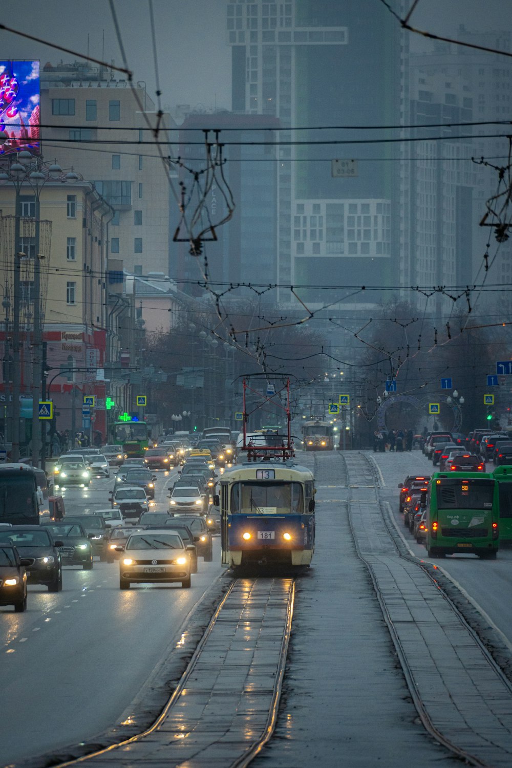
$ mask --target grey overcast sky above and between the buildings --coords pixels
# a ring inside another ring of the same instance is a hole
[[[343,0],[332,0],[339,5]],[[378,5],[379,0],[362,0],[362,5]],[[391,0],[398,5],[398,0]],[[468,30],[489,30],[512,26],[510,0],[420,0],[411,24],[441,35],[455,35],[459,24]],[[104,55],[121,65],[111,12],[107,0],[17,0],[16,12],[2,15],[0,21],[12,27],[56,42],[84,54],[101,58],[102,31]],[[154,97],[154,59],[151,45],[147,0],[117,0],[128,64],[134,79],[147,82]],[[158,66],[163,103],[230,108],[231,61],[226,45],[226,0],[154,0],[157,27]],[[397,22],[398,23],[398,22]],[[424,50],[428,41],[412,35],[415,50]],[[40,58],[56,63],[61,54],[8,32],[0,32],[0,59]]]

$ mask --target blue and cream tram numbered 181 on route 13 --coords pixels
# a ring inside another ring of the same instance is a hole
[[[315,478],[291,458],[239,464],[220,481],[223,564],[308,566],[315,550]]]

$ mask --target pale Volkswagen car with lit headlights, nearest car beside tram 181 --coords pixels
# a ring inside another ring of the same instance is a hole
[[[119,588],[130,584],[171,584],[190,588],[190,558],[178,531],[154,528],[130,536],[119,558]]]

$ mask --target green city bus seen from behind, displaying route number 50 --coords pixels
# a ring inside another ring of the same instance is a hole
[[[429,558],[477,554],[496,558],[499,545],[498,483],[487,472],[434,472],[428,484]]]

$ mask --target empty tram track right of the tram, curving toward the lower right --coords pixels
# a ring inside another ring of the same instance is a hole
[[[351,452],[340,459],[358,558],[372,579],[421,723],[469,765],[510,766],[510,680],[430,569],[401,553],[382,513],[370,458]]]

